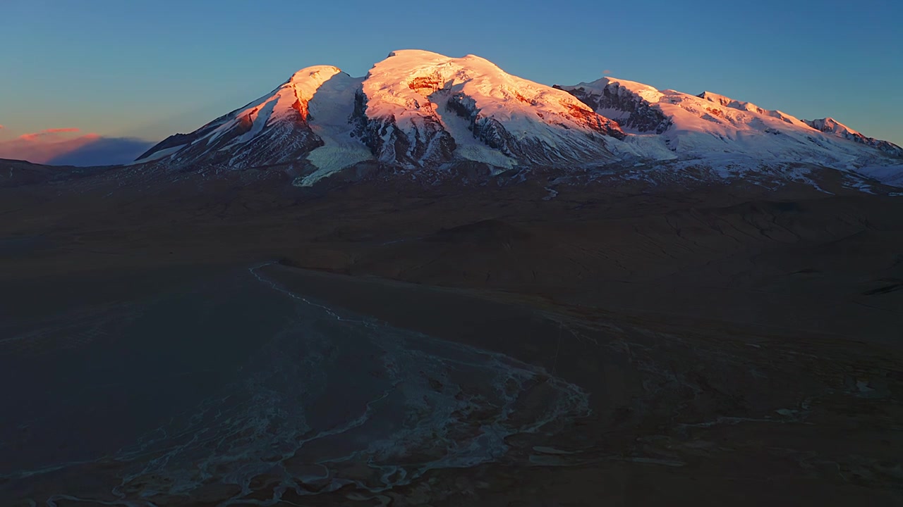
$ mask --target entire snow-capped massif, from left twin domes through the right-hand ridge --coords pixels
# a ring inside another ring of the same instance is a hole
[[[802,162],[901,180],[903,149],[831,118],[800,120],[711,92],[616,78],[548,87],[477,56],[405,50],[364,78],[330,66],[299,70],[272,93],[191,134],[172,135],[135,163],[289,164],[296,184],[310,185],[364,161],[413,174],[468,161],[562,170],[652,161],[755,170]]]

